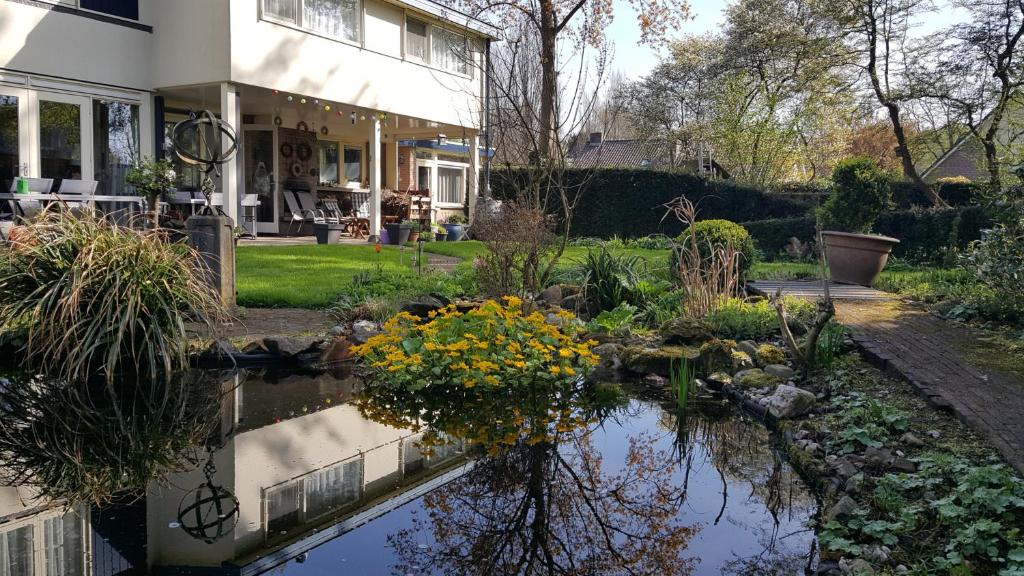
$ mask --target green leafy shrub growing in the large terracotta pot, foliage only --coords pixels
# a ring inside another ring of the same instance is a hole
[[[866,233],[892,204],[892,176],[869,158],[848,158],[833,170],[833,194],[818,210],[822,230]]]

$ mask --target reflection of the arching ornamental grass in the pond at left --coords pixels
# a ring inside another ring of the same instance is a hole
[[[0,389],[0,482],[45,500],[110,501],[197,463],[215,429],[209,375],[171,382],[68,385],[32,379]]]

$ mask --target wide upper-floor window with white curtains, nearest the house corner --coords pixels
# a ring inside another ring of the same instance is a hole
[[[310,32],[358,42],[362,18],[359,0],[262,0],[263,16]]]

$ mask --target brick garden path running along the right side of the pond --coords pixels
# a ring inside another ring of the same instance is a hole
[[[804,290],[800,295],[812,296],[806,287],[799,286]],[[963,344],[979,334],[897,299],[837,297],[836,316],[853,330],[854,340],[869,358],[907,379],[933,406],[951,410],[985,435],[1024,472],[1024,382],[970,363]]]

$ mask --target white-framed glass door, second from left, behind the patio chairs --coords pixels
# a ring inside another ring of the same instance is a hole
[[[37,92],[31,107],[39,142],[38,162],[41,178],[53,178],[53,190],[60,180],[92,180],[92,106],[87,97],[56,92]]]

